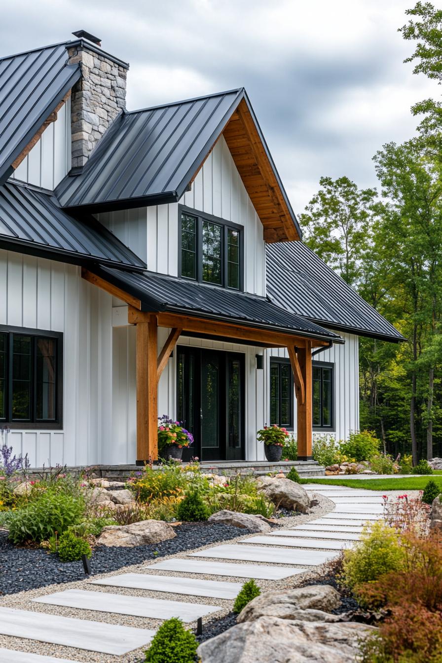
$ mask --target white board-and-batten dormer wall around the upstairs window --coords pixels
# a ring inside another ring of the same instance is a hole
[[[244,226],[245,291],[266,294],[262,223],[221,136],[180,203]],[[101,213],[97,218],[152,272],[178,276],[178,204]]]

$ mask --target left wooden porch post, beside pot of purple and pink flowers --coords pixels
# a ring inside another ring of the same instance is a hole
[[[137,465],[158,459],[156,316],[137,322]]]

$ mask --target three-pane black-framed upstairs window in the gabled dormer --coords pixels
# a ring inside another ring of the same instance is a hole
[[[180,276],[243,290],[243,226],[183,205],[178,213]]]

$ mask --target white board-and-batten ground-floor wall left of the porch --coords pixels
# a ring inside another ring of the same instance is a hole
[[[3,250],[0,284],[0,324],[63,332],[62,430],[14,428],[7,443],[34,467],[113,461],[111,296],[79,267]]]

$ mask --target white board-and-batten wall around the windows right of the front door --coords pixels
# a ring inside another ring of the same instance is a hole
[[[349,433],[359,430],[359,340],[354,334],[339,332],[345,340],[344,345],[333,345],[323,352],[315,355],[313,361],[327,361],[335,365],[333,390],[334,421],[333,432],[317,432],[315,435],[329,435],[336,440],[346,440]],[[267,351],[267,362],[270,356],[286,357],[286,348]],[[266,384],[268,391],[270,385]],[[266,394],[267,420],[270,420],[270,398]],[[296,403],[294,415],[294,430],[296,431]]]

